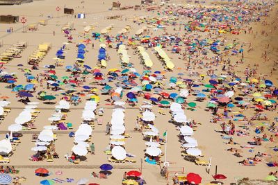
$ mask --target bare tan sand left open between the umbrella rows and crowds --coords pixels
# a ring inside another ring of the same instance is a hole
[[[17,72],[17,83],[18,84],[26,84],[26,80],[24,78],[24,73],[20,72],[18,70],[19,67],[17,67],[17,64],[23,64],[24,67],[22,68],[30,68],[27,64],[28,55],[33,53],[35,49],[38,47],[38,44],[41,44],[42,42],[51,42],[52,47],[47,53],[46,57],[42,62],[40,62],[40,70],[38,71],[32,71],[32,74],[35,76],[36,74],[40,73],[40,71],[45,70],[43,68],[46,64],[54,64],[55,53],[58,49],[60,49],[61,46],[63,46],[63,43],[67,41],[66,37],[64,37],[64,34],[61,33],[61,27],[69,21],[74,21],[74,28],[76,29],[72,33],[72,37],[74,37],[72,44],[67,45],[67,53],[65,53],[66,59],[64,67],[67,65],[74,64],[74,60],[76,57],[76,43],[80,42],[82,40],[82,37],[78,37],[79,33],[83,33],[83,28],[90,24],[95,24],[95,31],[100,31],[102,28],[105,28],[106,26],[113,24],[113,30],[110,35],[116,35],[119,30],[124,28],[126,25],[131,26],[131,31],[129,35],[133,35],[136,33],[136,30],[141,28],[142,26],[138,26],[138,24],[134,24],[132,21],[129,21],[129,18],[132,16],[142,16],[142,15],[149,15],[154,16],[155,12],[146,12],[145,10],[108,10],[108,8],[111,8],[112,1],[105,1],[105,3],[102,3],[103,1],[85,1],[85,8],[81,8],[83,4],[80,3],[80,1],[73,1],[73,0],[60,0],[60,1],[53,1],[53,0],[46,0],[46,1],[34,1],[33,3],[26,3],[20,6],[1,6],[1,14],[2,15],[19,15],[19,16],[26,16],[27,17],[27,24],[35,23],[41,19],[48,19],[47,26],[39,26],[38,31],[27,33],[22,33],[22,24],[1,24],[0,27],[0,40],[3,42],[4,46],[0,47],[0,53],[8,49],[8,47],[11,44],[15,44],[18,41],[26,41],[28,42],[28,47],[22,52],[22,58],[15,58],[11,62],[5,65],[6,71]],[[122,6],[134,6],[136,4],[139,4],[140,1],[126,1],[123,0]],[[62,11],[59,12],[59,18],[57,18],[57,12],[55,10],[56,6],[60,6],[63,10],[63,7],[66,6],[67,8],[74,8],[76,12],[86,12],[86,18],[85,19],[74,19],[70,17],[63,16]],[[76,8],[78,7],[79,8]],[[269,23],[272,23],[272,21],[275,21],[277,19],[277,6],[273,7],[272,12],[270,13],[270,17],[267,17],[267,21]],[[43,17],[39,17],[40,13],[42,13]],[[47,18],[47,15],[54,16],[54,18]],[[123,15],[123,19],[128,19],[127,21],[124,20],[109,20],[104,19],[106,16],[110,15]],[[277,25],[277,23],[275,23]],[[8,29],[10,26],[13,26],[13,33],[6,33],[6,29]],[[241,43],[252,43],[252,47],[254,48],[254,51],[250,53],[245,53],[245,63],[240,64],[239,67],[236,67],[236,71],[239,76],[243,76],[243,72],[245,67],[247,67],[248,64],[253,66],[254,64],[259,64],[259,73],[261,73],[261,76],[265,76],[268,74],[269,76],[267,79],[272,80],[272,82],[275,82],[277,85],[277,78],[278,73],[277,70],[273,71],[272,76],[270,76],[270,69],[272,69],[273,61],[278,60],[277,55],[277,36],[278,31],[273,27],[273,25],[270,26],[262,26],[261,23],[252,24],[254,33],[258,31],[258,35],[256,38],[254,38],[253,35],[245,35],[244,33],[240,33],[240,35],[231,35],[227,34],[225,37],[227,39],[238,39]],[[268,36],[261,36],[261,30],[272,30],[272,33],[268,33]],[[55,36],[53,35],[53,31],[55,31]],[[172,28],[167,26],[167,32],[168,33],[177,33],[178,31],[172,30]],[[154,35],[161,35],[163,34],[163,31],[159,30],[154,33]],[[154,36],[152,35],[152,36]],[[97,51],[99,49],[99,41],[93,41],[95,43],[95,49],[92,49],[90,45],[88,45],[88,53],[86,54],[86,64],[88,64],[90,67],[97,66]],[[268,54],[268,57],[270,60],[268,62],[263,62],[263,58],[261,58],[261,54],[265,50],[265,44],[270,44],[270,53]],[[247,51],[247,45],[244,46],[245,50]],[[271,49],[274,48],[273,51]],[[170,47],[168,48],[170,50]],[[163,65],[161,62],[156,58],[156,55],[152,53],[150,49],[147,50],[147,52],[150,55],[150,58],[154,62],[154,71],[163,71]],[[166,51],[167,54],[172,58],[172,61],[174,64],[176,64],[177,67],[181,67],[181,69],[174,69],[173,72],[167,72],[165,73],[165,76],[167,78],[170,78],[171,76],[177,75],[179,72],[186,73],[186,76],[188,76],[188,71],[186,71],[186,65],[184,64],[184,61],[179,59],[181,58],[181,55],[170,53],[170,51]],[[120,68],[120,62],[119,62],[119,56],[117,55],[117,52],[115,49],[107,49],[108,55],[111,57],[111,61],[108,62],[108,67],[106,69],[102,69],[101,72],[106,73],[108,72],[108,69],[111,68]],[[131,62],[134,63],[134,67],[138,72],[142,72],[143,66],[140,64],[139,58],[137,54],[133,53],[133,50],[128,50],[129,55],[131,55]],[[239,56],[232,56],[231,57],[231,63],[235,64],[237,60],[240,60]],[[62,76],[67,75],[65,73],[64,67],[57,67],[57,76],[60,78]],[[215,67],[215,69],[218,69],[216,73],[221,73],[221,66]],[[200,73],[206,73],[206,69],[197,69],[200,71]],[[89,77],[90,78],[90,77]],[[197,78],[196,78],[197,79]],[[90,79],[88,79],[90,81]],[[44,83],[44,86],[46,83]],[[22,108],[24,105],[22,103],[19,103],[17,101],[17,98],[15,98],[15,93],[10,93],[10,89],[3,88],[4,85],[1,84],[1,96],[10,96],[9,99],[11,104],[10,107],[11,112],[8,114],[8,116],[2,121],[0,125],[1,130],[1,138],[4,138],[4,133],[2,131],[8,130],[8,125],[12,124],[14,119],[17,117],[17,115],[22,112]],[[42,90],[41,87],[38,89]],[[37,91],[38,91],[37,89]],[[198,88],[197,88],[198,89]],[[199,88],[201,90],[201,88]],[[44,88],[44,90],[46,90]],[[170,92],[169,90],[167,90]],[[59,94],[59,92],[49,92],[53,95]],[[10,164],[8,166],[18,166],[18,169],[20,170],[18,175],[12,175],[15,176],[24,176],[27,178],[26,182],[22,182],[22,184],[39,184],[42,179],[51,179],[51,178],[60,178],[65,179],[67,177],[74,178],[75,180],[81,178],[81,177],[87,177],[90,179],[90,182],[96,182],[99,184],[121,184],[122,183],[122,175],[125,171],[128,170],[139,170],[140,168],[140,160],[144,160],[144,150],[145,150],[145,141],[143,141],[143,136],[139,132],[134,132],[133,128],[135,127],[136,123],[136,116],[138,116],[139,109],[132,109],[128,105],[126,105],[126,112],[125,112],[125,124],[126,124],[126,132],[130,134],[132,137],[130,139],[126,139],[126,151],[136,155],[134,158],[136,160],[136,164],[113,164],[114,169],[112,170],[112,175],[108,177],[108,179],[95,179],[90,177],[90,173],[92,171],[98,172],[101,164],[105,164],[108,162],[107,156],[104,153],[104,149],[106,146],[108,146],[109,138],[108,136],[105,136],[105,129],[106,129],[106,123],[111,120],[111,114],[112,114],[112,107],[105,105],[104,99],[108,98],[107,96],[101,95],[101,102],[98,107],[104,107],[104,116],[101,118],[103,119],[102,125],[95,125],[95,130],[92,134],[92,141],[95,143],[96,148],[96,155],[86,155],[87,159],[85,161],[81,161],[80,164],[70,164],[65,160],[63,157],[67,153],[70,153],[70,150],[73,146],[73,139],[68,136],[68,132],[60,133],[57,131],[57,141],[56,143],[56,152],[60,155],[60,159],[54,159],[53,163],[48,163],[47,161],[30,161],[28,160],[28,157],[33,155],[34,152],[31,151],[31,148],[35,146],[33,142],[31,142],[31,133],[23,133],[21,143],[16,147],[17,149],[14,152],[14,155],[10,157]],[[36,100],[35,98],[31,98],[31,100]],[[195,96],[188,96],[188,102],[191,102],[195,100]],[[143,99],[140,98],[140,103],[142,103]],[[58,99],[56,100],[58,102]],[[139,105],[140,105],[139,103]],[[240,177],[249,177],[250,179],[263,179],[266,177],[270,171],[270,168],[266,166],[264,163],[258,164],[256,166],[240,166],[238,164],[237,157],[231,155],[230,152],[227,152],[227,148],[231,147],[226,145],[223,139],[221,139],[220,134],[215,132],[215,130],[220,130],[219,124],[210,123],[211,113],[207,112],[205,109],[206,107],[206,101],[204,102],[198,102],[197,103],[197,110],[196,111],[189,111],[186,110],[185,114],[188,118],[191,120],[195,120],[199,123],[202,123],[201,125],[198,125],[194,137],[198,141],[198,148],[202,150],[204,153],[204,157],[209,160],[211,157],[211,173],[206,173],[206,167],[205,166],[197,166],[194,163],[190,161],[186,161],[181,157],[181,143],[179,143],[178,134],[179,130],[176,130],[175,126],[172,123],[169,123],[170,120],[170,113],[166,112],[166,115],[158,114],[158,108],[154,107],[153,111],[156,114],[156,120],[155,125],[160,130],[161,134],[167,130],[167,161],[170,161],[170,177],[174,175],[174,173],[181,173],[181,171],[184,169],[184,173],[197,173],[199,174],[203,182],[211,182],[213,180],[213,177],[211,175],[214,175],[215,166],[218,167],[218,173],[226,175],[228,178],[223,180],[224,184],[229,184],[231,182],[235,182],[236,179]],[[81,115],[82,115],[82,109],[85,105],[85,99],[83,102],[77,106],[71,107],[71,111],[67,114],[67,121],[70,123],[73,123],[74,129],[72,131],[77,130],[79,125],[81,124]],[[35,126],[36,129],[32,130],[34,132],[40,132],[43,129],[44,125],[49,125],[50,122],[48,121],[48,118],[55,112],[54,109],[55,105],[46,105],[43,103],[40,103],[38,107],[40,108],[40,114],[37,118],[35,118]],[[245,115],[251,116],[252,111],[246,111],[244,113]],[[277,116],[277,112],[267,112],[269,118],[273,118]],[[236,123],[237,124],[237,123]],[[7,131],[8,132],[8,131]],[[247,141],[250,141],[252,139],[252,134],[250,136],[245,137],[234,137],[234,141],[238,143],[246,143]],[[277,139],[275,143],[271,143],[271,146],[277,146]],[[244,150],[242,155],[245,159],[246,157],[251,157],[258,151],[265,151],[265,152],[271,152],[272,156],[275,155],[275,152],[272,152],[269,150],[270,146],[259,146],[254,149],[253,153],[248,152],[248,150]],[[161,148],[164,152],[165,146],[162,146]],[[164,156],[163,156],[164,158]],[[275,158],[277,160],[277,157]],[[164,159],[163,159],[164,160]],[[49,177],[37,177],[34,174],[34,170],[36,168],[39,168],[40,166],[43,166],[49,171],[51,171],[52,175]],[[55,172],[57,170],[62,170],[63,175],[55,175]],[[152,166],[149,164],[146,164],[145,162],[142,163],[142,177],[146,180],[147,184],[167,184],[169,182],[172,184],[171,179],[165,179],[161,177],[160,175],[161,168],[159,166]],[[272,169],[271,169],[272,170]],[[66,183],[65,183],[66,184]]]

